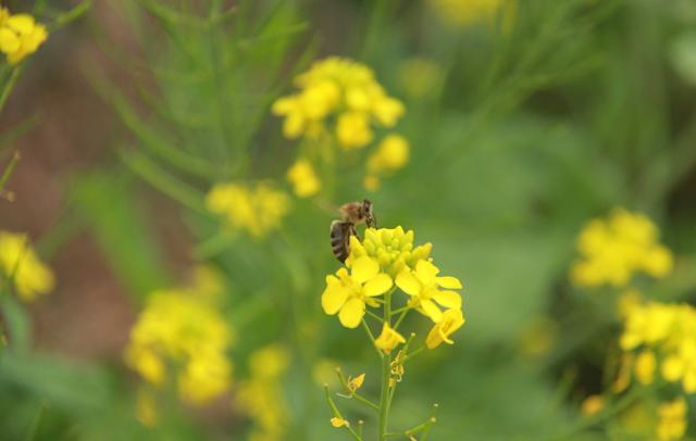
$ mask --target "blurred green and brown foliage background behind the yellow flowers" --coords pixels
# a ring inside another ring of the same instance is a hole
[[[676,255],[674,274],[645,289],[695,299],[691,0],[94,2],[49,36],[0,116],[0,165],[22,154],[0,228],[27,231],[57,277],[39,301],[3,304],[17,344],[0,355],[0,438],[247,439],[234,381],[250,375],[249,354],[279,343],[290,353],[279,439],[349,439],[328,425],[318,366],[366,371],[373,394],[378,366],[363,333],[321,311],[336,216],[293,198],[281,230],[254,240],[221,235],[203,206],[221,180],[290,192],[297,142],[270,105],[327,55],[371,66],[403,102],[411,158],[374,193],[348,164],[325,202],[370,198],[381,226],[433,242],[465,288],[457,344],[409,365],[391,424],[438,403],[432,440],[632,439],[572,429],[582,399],[606,386],[620,328],[568,268],[583,225],[625,206]],[[128,332],[150,292],[185,285],[199,263],[224,279],[232,392],[165,406],[147,427],[142,380],[123,362]]]

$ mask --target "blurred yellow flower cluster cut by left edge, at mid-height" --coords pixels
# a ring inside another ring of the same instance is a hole
[[[12,279],[20,299],[30,302],[53,289],[54,277],[24,234],[0,231],[0,274]]]

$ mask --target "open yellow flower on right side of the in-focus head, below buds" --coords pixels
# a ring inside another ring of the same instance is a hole
[[[461,282],[456,277],[437,277],[439,269],[431,262],[419,261],[414,272],[403,269],[396,277],[396,285],[411,295],[409,304],[435,323],[443,319],[443,312],[437,304],[447,308],[461,308],[459,293],[449,291],[461,289]],[[440,291],[439,288],[447,290]]]

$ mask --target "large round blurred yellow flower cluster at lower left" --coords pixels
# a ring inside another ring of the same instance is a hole
[[[160,388],[175,378],[184,401],[204,404],[231,386],[226,352],[232,339],[232,330],[204,293],[157,291],[130,330],[125,361],[152,386]]]

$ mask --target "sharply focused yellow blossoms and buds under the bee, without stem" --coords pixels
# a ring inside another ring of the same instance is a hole
[[[405,311],[415,310],[431,318],[435,326],[427,336],[428,348],[448,338],[464,324],[461,282],[455,277],[438,276],[439,269],[430,259],[432,244],[413,247],[413,231],[396,228],[368,228],[364,239],[350,238],[350,254],[346,267],[326,276],[322,307],[330,315],[338,314],[341,325],[356,328],[365,310],[384,303],[382,297],[396,286],[407,295]],[[444,311],[443,311],[444,308]],[[388,323],[384,324],[377,345],[390,351],[405,340]]]

